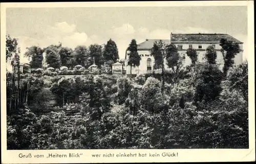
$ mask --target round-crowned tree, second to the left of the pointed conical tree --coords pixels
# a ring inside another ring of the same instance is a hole
[[[73,51],[73,55],[77,64],[88,68],[91,65],[89,52],[86,46],[78,45]]]

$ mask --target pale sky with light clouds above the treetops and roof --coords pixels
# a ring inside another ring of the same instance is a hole
[[[7,8],[6,33],[18,38],[20,60],[26,48],[58,44],[74,49],[77,45],[117,44],[119,57],[132,39],[169,39],[170,33],[227,33],[244,42],[247,58],[246,6],[194,7],[83,7]]]

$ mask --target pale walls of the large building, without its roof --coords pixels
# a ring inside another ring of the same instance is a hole
[[[174,43],[174,44],[176,46],[182,44],[182,49],[178,50],[178,53],[180,54],[181,57],[185,57],[185,59],[183,59],[184,67],[191,64],[191,60],[186,54],[186,50],[189,48],[189,44],[192,45],[193,49],[195,49],[197,51],[199,62],[202,62],[204,60],[207,47],[209,45],[215,44],[216,53],[217,53],[216,61],[218,64],[220,64],[220,68],[222,68],[224,65],[223,55],[220,51],[221,46],[219,45],[219,43]],[[198,49],[199,44],[202,45],[202,49]],[[240,49],[243,50],[243,44],[240,44]],[[129,54],[129,51],[127,51],[126,53]],[[152,60],[152,71],[153,71],[155,59],[153,56],[150,55],[150,50],[148,50],[148,51],[138,50],[138,54],[141,56],[140,65],[139,65],[139,67],[132,67],[132,74],[138,75],[138,74],[147,73],[147,59],[148,58],[150,58]],[[130,70],[131,70],[131,66],[127,65],[128,59],[129,59],[129,55],[127,55],[127,59],[125,61],[125,67],[124,67],[124,69],[126,69],[126,74],[130,74]],[[236,65],[241,64],[243,62],[243,51],[241,51],[239,54],[236,55],[236,57],[234,58],[234,61],[235,61],[234,64],[236,64]],[[166,61],[164,61],[164,65],[165,65],[165,68],[168,68]]]

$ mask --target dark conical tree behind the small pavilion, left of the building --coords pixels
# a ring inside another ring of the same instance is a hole
[[[119,59],[116,43],[112,39],[110,39],[106,43],[106,45],[104,47],[104,51],[103,51],[103,57],[104,57],[105,61],[112,60],[112,61],[116,62],[117,59]]]

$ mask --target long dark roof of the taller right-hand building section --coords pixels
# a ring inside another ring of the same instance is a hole
[[[236,38],[228,34],[171,34],[172,42],[220,42],[220,40],[227,39],[232,42],[242,43]]]

